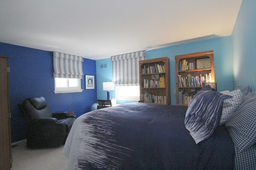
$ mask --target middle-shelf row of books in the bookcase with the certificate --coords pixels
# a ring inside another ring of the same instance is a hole
[[[184,77],[182,75],[178,75],[178,82],[179,87],[202,87],[204,86],[204,83],[212,82],[212,75],[211,73],[205,74],[205,76],[202,76],[202,74],[198,76],[188,74],[188,76]]]

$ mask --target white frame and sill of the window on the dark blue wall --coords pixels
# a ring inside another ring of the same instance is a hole
[[[68,84],[69,84],[69,78],[66,78],[67,81],[66,81],[66,87],[56,87],[56,78],[54,78],[54,87],[55,87],[55,90],[54,90],[54,93],[57,94],[57,93],[75,93],[75,92],[82,92],[82,88],[81,88],[81,79],[80,78],[77,78],[78,80],[78,86],[77,87],[69,87]]]

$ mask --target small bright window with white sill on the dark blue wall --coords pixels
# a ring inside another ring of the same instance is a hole
[[[82,92],[81,79],[79,78],[54,78],[54,93]]]

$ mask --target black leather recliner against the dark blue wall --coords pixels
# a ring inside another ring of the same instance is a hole
[[[27,98],[18,104],[27,132],[27,148],[59,147],[75,121],[73,115],[52,113],[44,97]]]

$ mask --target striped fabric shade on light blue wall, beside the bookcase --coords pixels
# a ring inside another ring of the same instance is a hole
[[[137,51],[111,57],[112,81],[116,86],[139,86],[139,61],[146,60],[146,51]]]

